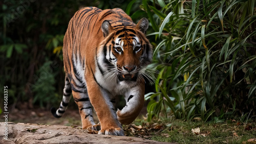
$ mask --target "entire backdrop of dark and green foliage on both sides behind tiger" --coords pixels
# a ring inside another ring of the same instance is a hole
[[[0,85],[16,106],[49,108],[62,97],[62,41],[81,7],[123,9],[150,21],[155,90],[145,95],[148,121],[166,116],[221,121],[256,115],[255,1],[0,2]],[[3,103],[1,102],[1,105]]]

